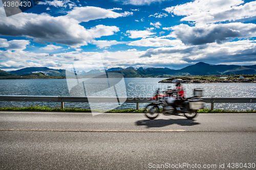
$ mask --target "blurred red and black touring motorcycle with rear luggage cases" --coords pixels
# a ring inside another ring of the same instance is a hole
[[[159,92],[149,100],[153,100],[151,104],[145,107],[145,116],[150,119],[155,119],[160,113],[164,115],[180,115],[183,114],[187,119],[193,119],[197,116],[197,111],[204,108],[202,96],[202,89],[194,89],[194,96],[186,98],[183,103],[176,106],[175,112],[174,101],[177,99],[172,90]]]

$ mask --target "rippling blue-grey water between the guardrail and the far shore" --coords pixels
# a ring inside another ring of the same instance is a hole
[[[174,84],[158,83],[164,78],[124,78],[127,96],[152,96],[157,88],[164,90]],[[74,80],[76,81],[76,80]],[[204,96],[215,97],[256,97],[256,83],[184,84],[186,94],[191,96],[194,88],[204,89]],[[125,91],[124,91],[125,93]],[[66,79],[0,80],[0,95],[71,95]],[[5,106],[45,105],[60,107],[55,102],[0,102]],[[97,104],[99,109],[108,109],[111,104]],[[146,104],[140,104],[143,108]],[[88,103],[65,103],[65,107],[89,108]],[[210,105],[206,104],[209,108]],[[135,108],[134,103],[124,103],[118,109]],[[215,104],[215,109],[248,110],[256,104]]]

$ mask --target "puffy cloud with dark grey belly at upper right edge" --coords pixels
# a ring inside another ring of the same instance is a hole
[[[230,41],[228,38],[256,37],[256,25],[254,23],[231,22],[225,24],[209,24],[189,27],[178,25],[172,27],[170,37],[180,39],[185,44],[205,44]]]

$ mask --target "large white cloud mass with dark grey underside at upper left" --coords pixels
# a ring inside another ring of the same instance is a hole
[[[68,15],[58,17],[53,17],[45,13],[23,13],[26,17],[6,17],[4,8],[0,8],[0,34],[4,36],[27,36],[36,39],[38,42],[57,42],[79,47],[81,45],[87,45],[94,38],[113,35],[119,31],[116,26],[103,25],[98,25],[87,30],[79,25],[81,21],[128,15],[127,13],[119,14],[101,8],[87,9],[90,9],[90,12],[85,10],[88,13],[84,13],[83,7],[76,7]],[[82,15],[84,17],[78,17],[79,12],[77,13],[76,11],[80,11],[81,15],[90,14],[90,16]],[[98,11],[103,11],[103,13],[97,13]]]

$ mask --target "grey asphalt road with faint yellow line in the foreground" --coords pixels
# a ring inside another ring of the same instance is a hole
[[[0,112],[0,168],[256,169],[255,122],[256,114]]]

